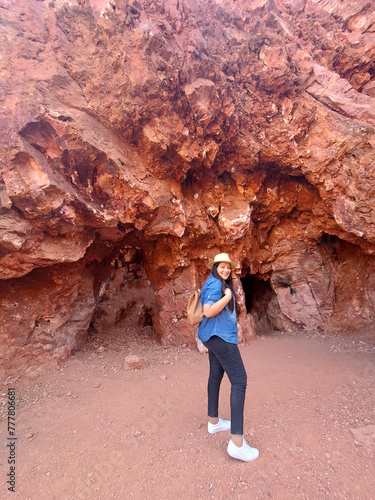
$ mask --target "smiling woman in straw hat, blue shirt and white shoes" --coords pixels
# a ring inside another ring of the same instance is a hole
[[[252,462],[259,456],[243,437],[243,410],[247,385],[246,370],[238,349],[237,304],[231,262],[228,254],[220,253],[208,264],[211,274],[203,285],[201,303],[204,318],[198,337],[208,349],[208,432],[215,434],[231,429],[228,453],[231,457]],[[224,372],[231,383],[231,421],[218,415],[220,384]]]

